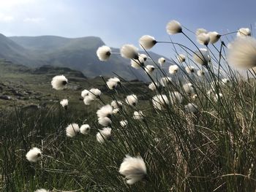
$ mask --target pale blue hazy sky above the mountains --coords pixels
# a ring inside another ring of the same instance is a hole
[[[192,31],[206,28],[225,34],[252,26],[253,33],[255,7],[255,0],[0,0],[0,33],[7,37],[96,36],[110,47],[138,46],[145,34],[168,41],[165,26],[170,20]],[[172,39],[188,43],[182,34]],[[152,51],[169,56],[170,45],[158,45]]]

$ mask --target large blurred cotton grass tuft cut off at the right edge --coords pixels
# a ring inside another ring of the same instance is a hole
[[[256,66],[256,39],[253,37],[237,38],[227,55],[229,64],[241,69]]]

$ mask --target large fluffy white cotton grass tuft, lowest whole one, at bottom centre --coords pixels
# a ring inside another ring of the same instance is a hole
[[[119,173],[127,179],[127,184],[132,185],[146,178],[146,164],[143,158],[126,155],[121,163]]]

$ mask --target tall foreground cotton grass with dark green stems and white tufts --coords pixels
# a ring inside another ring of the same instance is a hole
[[[148,89],[135,93],[121,77],[102,77],[107,91],[82,91],[84,111],[59,98],[62,107],[3,115],[3,191],[255,191],[255,39],[241,28],[226,46],[236,31],[194,33],[176,20],[166,30],[170,40],[145,35],[142,50],[121,47]],[[173,55],[154,61],[148,50],[162,44]],[[112,54],[97,50],[100,61]],[[63,75],[52,81],[63,94],[71,83]],[[33,147],[42,154],[31,162]]]

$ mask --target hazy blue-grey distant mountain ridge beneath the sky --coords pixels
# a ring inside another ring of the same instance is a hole
[[[121,55],[113,54],[109,61],[99,61],[96,51],[102,45],[105,43],[99,37],[5,37],[1,34],[0,58],[33,68],[44,65],[68,67],[82,72],[86,77],[112,77],[115,72],[127,80],[148,81],[143,70],[133,69],[130,61]],[[119,52],[117,48],[111,49]],[[156,61],[161,57],[156,53],[150,54]]]

